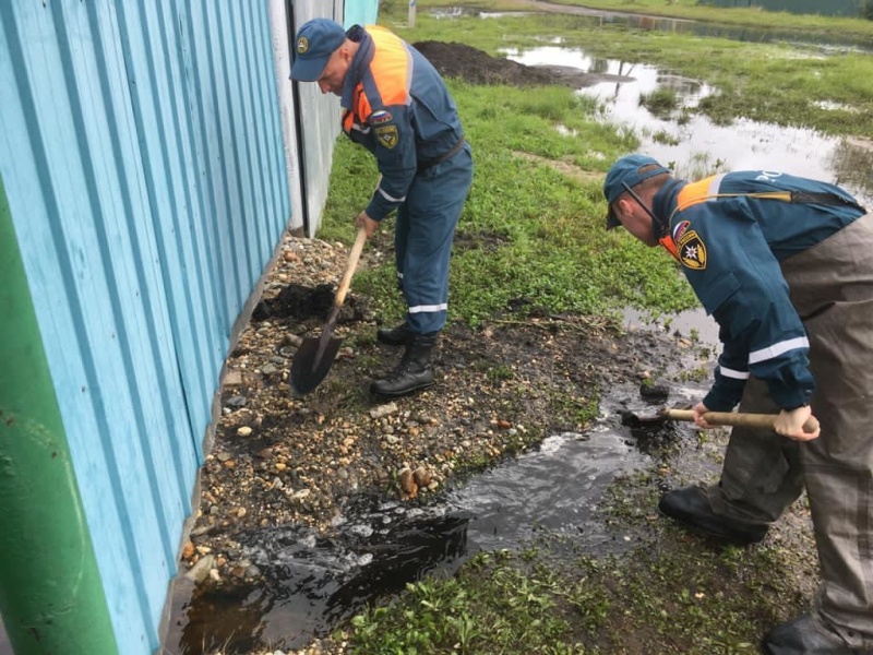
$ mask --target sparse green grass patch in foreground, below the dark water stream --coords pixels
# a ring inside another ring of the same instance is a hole
[[[409,584],[335,640],[360,655],[752,655],[753,635],[804,609],[781,583],[794,562],[779,548],[750,556],[691,540],[553,562],[550,538],[517,553],[479,553],[451,579]],[[661,538],[674,538],[669,527]]]

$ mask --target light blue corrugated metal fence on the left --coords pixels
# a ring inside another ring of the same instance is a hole
[[[148,653],[229,333],[289,218],[266,7],[0,21],[0,174],[118,642]]]

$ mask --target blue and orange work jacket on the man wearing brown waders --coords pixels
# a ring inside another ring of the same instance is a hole
[[[808,404],[815,390],[809,341],[779,262],[852,223],[863,207],[839,187],[758,170],[672,180],[653,210],[665,225],[661,245],[719,325],[723,347],[707,408],[733,408],[750,374],[767,382],[780,407]]]

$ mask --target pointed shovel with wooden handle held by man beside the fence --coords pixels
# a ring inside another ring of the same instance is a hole
[[[318,338],[313,336],[306,337],[297,349],[291,362],[291,388],[298,396],[308,394],[321,384],[321,381],[324,380],[327,371],[334,365],[336,354],[339,352],[339,344],[343,343],[340,337],[334,336],[336,318],[339,315],[339,310],[346,299],[349,284],[351,284],[351,275],[358,265],[358,259],[360,259],[366,240],[367,230],[360,228],[358,236],[355,237],[351,252],[348,253],[346,273],[343,275],[339,288],[336,290],[334,306],[327,317],[327,322],[322,327],[321,336]]]

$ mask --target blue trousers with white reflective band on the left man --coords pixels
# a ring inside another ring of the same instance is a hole
[[[416,176],[404,204],[406,223],[403,291],[411,332],[429,334],[445,324],[452,238],[473,181],[469,146]]]

